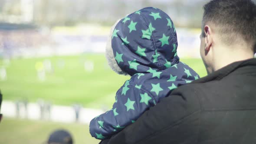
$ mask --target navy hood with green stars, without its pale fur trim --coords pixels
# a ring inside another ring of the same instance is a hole
[[[161,71],[179,62],[177,34],[171,18],[147,7],[121,19],[112,34],[118,66],[129,75]]]

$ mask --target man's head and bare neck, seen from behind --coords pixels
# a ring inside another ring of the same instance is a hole
[[[211,73],[256,52],[256,5],[251,0],[212,0],[204,6],[200,54]]]

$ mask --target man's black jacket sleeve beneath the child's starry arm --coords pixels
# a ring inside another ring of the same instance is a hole
[[[198,99],[191,95],[170,95],[101,144],[195,144],[199,124]]]

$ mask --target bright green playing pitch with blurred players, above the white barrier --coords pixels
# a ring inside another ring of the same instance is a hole
[[[49,59],[53,72],[46,73],[46,81],[37,78],[36,62]],[[94,62],[94,71],[86,72],[84,62]],[[205,76],[201,59],[181,59],[199,75]],[[60,62],[65,65],[60,66]],[[6,65],[0,60],[0,66]],[[84,107],[111,107],[115,93],[128,76],[118,75],[107,65],[104,54],[85,54],[81,56],[53,56],[33,59],[12,59],[7,66],[7,80],[0,81],[4,100],[28,98],[35,102],[38,98],[56,105],[80,103]]]

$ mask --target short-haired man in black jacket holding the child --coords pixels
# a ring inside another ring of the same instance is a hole
[[[256,5],[210,1],[200,39],[208,76],[177,88],[102,144],[256,144]]]

